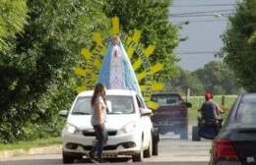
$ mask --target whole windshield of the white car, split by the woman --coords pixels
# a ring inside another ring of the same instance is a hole
[[[108,114],[132,114],[134,113],[134,104],[131,96],[108,95],[106,96]],[[91,97],[79,97],[75,103],[73,115],[91,114]]]

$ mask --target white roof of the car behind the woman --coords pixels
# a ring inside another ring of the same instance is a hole
[[[92,96],[94,90],[82,91],[78,96]],[[136,95],[136,91],[128,89],[106,89],[106,95]]]

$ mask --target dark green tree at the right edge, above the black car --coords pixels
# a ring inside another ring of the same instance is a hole
[[[219,56],[233,71],[236,83],[256,91],[256,1],[237,4],[235,14],[222,35],[224,47]]]

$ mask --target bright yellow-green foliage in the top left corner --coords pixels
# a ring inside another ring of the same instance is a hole
[[[27,24],[28,11],[26,0],[0,1],[0,51],[13,46],[12,39],[21,34]]]

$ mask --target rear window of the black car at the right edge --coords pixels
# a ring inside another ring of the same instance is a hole
[[[239,106],[240,122],[256,124],[256,103],[244,102]]]

